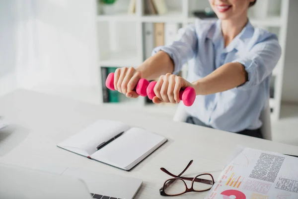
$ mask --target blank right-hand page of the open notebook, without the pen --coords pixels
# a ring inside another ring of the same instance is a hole
[[[160,135],[134,127],[93,153],[91,158],[116,167],[126,168],[165,140]]]

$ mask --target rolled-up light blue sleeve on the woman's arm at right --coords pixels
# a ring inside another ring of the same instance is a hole
[[[264,41],[255,44],[247,56],[232,61],[242,64],[248,75],[247,82],[237,88],[247,90],[262,83],[272,73],[281,53],[277,36],[272,34]]]

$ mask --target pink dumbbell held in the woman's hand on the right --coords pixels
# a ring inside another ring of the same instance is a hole
[[[156,83],[157,82],[154,82],[154,81],[150,82],[150,84],[147,87],[147,95],[150,100],[152,100],[154,98],[154,96],[156,96],[153,91]],[[180,100],[183,101],[184,105],[191,106],[196,99],[196,92],[195,92],[194,88],[186,87],[184,90],[180,90],[179,98],[180,98]]]

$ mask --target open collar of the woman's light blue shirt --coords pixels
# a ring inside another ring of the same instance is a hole
[[[222,21],[218,19],[216,23],[214,23],[214,27],[209,31],[207,38],[211,39],[215,46],[219,45],[221,42],[224,42],[223,34],[222,34]],[[244,28],[241,32],[224,48],[224,52],[230,52],[233,49],[239,50],[239,47],[242,46],[243,40],[245,39],[245,33],[250,31],[253,28],[250,21],[248,20]]]

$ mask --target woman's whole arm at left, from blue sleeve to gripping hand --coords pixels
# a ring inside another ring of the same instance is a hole
[[[194,25],[181,28],[178,38],[172,44],[156,47],[152,56],[138,68],[117,69],[114,76],[115,90],[130,98],[138,97],[133,89],[141,78],[152,80],[167,73],[177,74],[195,56],[197,43]]]

